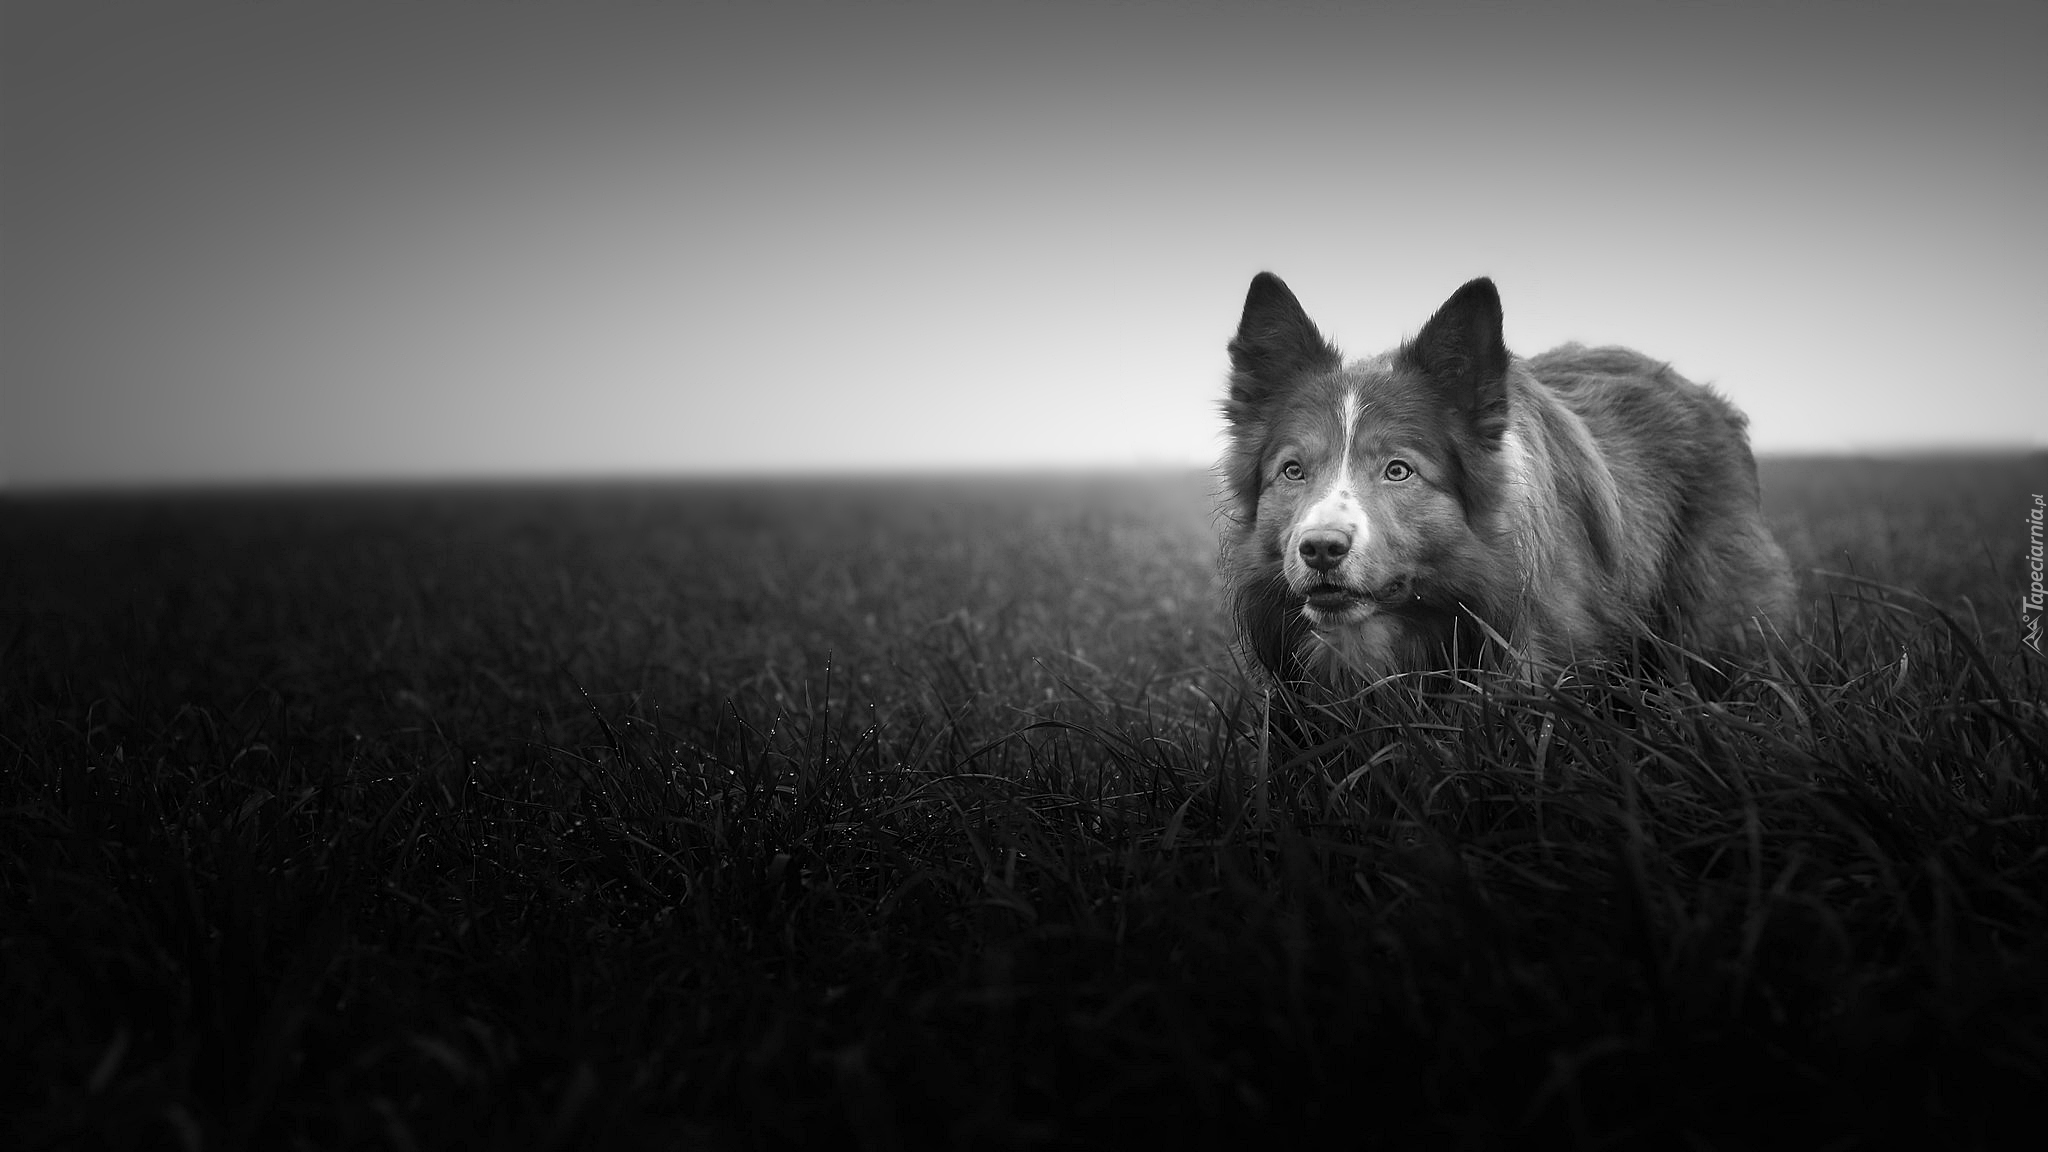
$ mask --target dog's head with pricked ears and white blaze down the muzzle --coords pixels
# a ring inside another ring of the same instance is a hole
[[[1460,287],[1401,348],[1343,365],[1260,273],[1229,351],[1223,471],[1247,640],[1274,670],[1311,633],[1376,635],[1386,662],[1397,633],[1456,615],[1462,574],[1485,568],[1473,523],[1501,500],[1511,363],[1493,281]]]

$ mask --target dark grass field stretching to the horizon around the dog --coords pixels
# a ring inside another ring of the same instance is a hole
[[[10,498],[4,1142],[2005,1148],[2048,457],[1765,488],[1733,683],[1272,726],[1206,476]]]

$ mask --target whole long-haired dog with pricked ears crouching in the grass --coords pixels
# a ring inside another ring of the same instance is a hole
[[[1346,365],[1260,273],[1229,351],[1223,576],[1280,681],[1729,652],[1790,613],[1743,414],[1628,348],[1511,357],[1493,281]]]

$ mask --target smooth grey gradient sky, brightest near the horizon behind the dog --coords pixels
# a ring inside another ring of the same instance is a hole
[[[4,14],[20,486],[1206,463],[1260,269],[2048,443],[2044,4]]]

